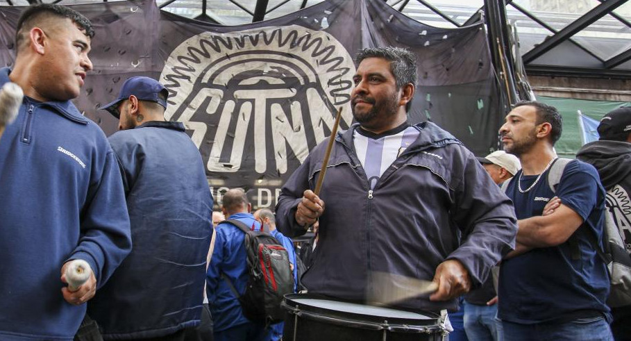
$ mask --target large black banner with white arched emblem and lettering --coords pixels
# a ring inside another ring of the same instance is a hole
[[[496,149],[500,110],[481,24],[445,29],[420,24],[385,1],[329,0],[291,15],[217,26],[160,11],[153,1],[71,6],[92,20],[94,71],[75,103],[106,134],[118,122],[101,103],[131,76],[169,89],[167,119],[184,122],[199,147],[212,193],[244,188],[254,207],[276,205],[283,182],[353,116],[353,58],[362,47],[417,53],[419,83],[410,122],[431,120],[477,155]],[[0,7],[0,58],[11,65],[19,13]]]

